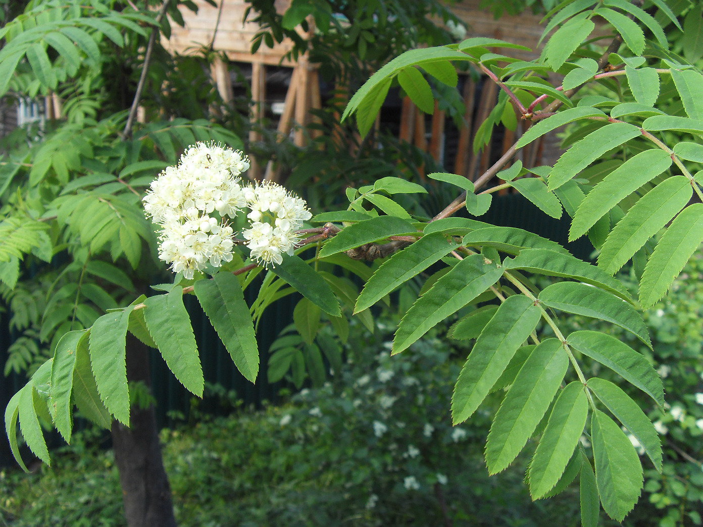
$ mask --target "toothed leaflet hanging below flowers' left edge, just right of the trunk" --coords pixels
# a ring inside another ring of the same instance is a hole
[[[169,293],[150,297],[144,304],[146,327],[169,370],[188,391],[202,397],[202,367],[191,318],[183,306],[183,287],[176,285]]]

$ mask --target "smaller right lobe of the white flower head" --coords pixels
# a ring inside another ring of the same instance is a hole
[[[247,214],[250,228],[242,231],[251,249],[252,260],[276,265],[283,261],[283,253],[293,254],[296,244],[300,242],[295,232],[303,221],[312,217],[305,207],[305,201],[289,193],[278,183],[264,181],[257,186],[246,188],[244,195],[247,207],[252,212]]]

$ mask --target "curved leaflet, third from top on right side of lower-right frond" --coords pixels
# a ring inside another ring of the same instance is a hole
[[[652,348],[647,326],[640,313],[630,304],[598,287],[579,282],[559,282],[543,289],[539,301],[567,313],[607,320],[633,333]]]

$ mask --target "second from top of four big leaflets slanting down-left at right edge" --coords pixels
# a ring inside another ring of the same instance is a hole
[[[671,167],[671,156],[653,148],[634,155],[605,176],[581,202],[576,210],[569,241],[576,240],[593,227],[602,216],[625,197]]]

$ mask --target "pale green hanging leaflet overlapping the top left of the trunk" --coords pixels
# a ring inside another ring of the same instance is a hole
[[[125,336],[132,306],[112,311],[93,323],[89,351],[101,400],[115,419],[129,427],[129,391],[125,365]]]

